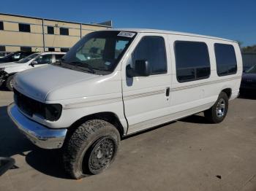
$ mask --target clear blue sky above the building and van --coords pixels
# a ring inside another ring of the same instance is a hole
[[[80,23],[113,20],[115,28],[157,28],[256,44],[256,0],[9,0],[1,1],[0,12]]]

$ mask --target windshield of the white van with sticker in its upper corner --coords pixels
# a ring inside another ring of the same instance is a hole
[[[80,39],[57,66],[93,74],[110,74],[135,38],[124,31],[96,31]]]

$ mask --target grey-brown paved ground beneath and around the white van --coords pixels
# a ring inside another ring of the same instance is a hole
[[[121,141],[108,171],[72,180],[59,152],[38,149],[7,117],[12,93],[0,91],[0,156],[16,167],[0,190],[256,190],[256,98],[230,103],[225,122],[200,114]],[[219,178],[218,178],[219,177]]]

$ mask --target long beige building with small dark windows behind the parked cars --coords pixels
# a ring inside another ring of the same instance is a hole
[[[0,13],[0,51],[61,51],[92,31],[112,28],[112,21],[75,23]]]

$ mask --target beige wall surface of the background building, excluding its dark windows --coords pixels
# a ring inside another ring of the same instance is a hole
[[[31,47],[32,51],[43,51],[42,19],[0,14],[0,21],[4,23],[4,31],[0,31],[0,46],[4,45],[7,51],[20,50],[20,47]],[[18,23],[30,24],[31,32],[20,32]],[[45,51],[48,47],[54,47],[56,51],[60,51],[61,47],[72,47],[78,42],[81,34],[84,36],[92,31],[106,28],[55,20],[44,20],[44,26]],[[54,27],[54,34],[48,34],[48,26]],[[69,28],[69,36],[59,35],[61,27]]]

